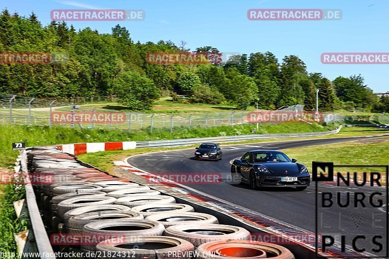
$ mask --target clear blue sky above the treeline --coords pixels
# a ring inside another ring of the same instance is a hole
[[[142,9],[143,21],[123,21],[134,41],[181,40],[187,47],[212,46],[221,52],[273,52],[298,55],[309,72],[337,76],[361,74],[374,91],[389,90],[389,65],[324,65],[323,52],[389,52],[388,0],[1,0],[2,9],[29,15],[43,25],[53,9]],[[247,10],[341,9],[333,21],[250,21]],[[73,21],[76,29],[91,27],[110,33],[118,22]]]

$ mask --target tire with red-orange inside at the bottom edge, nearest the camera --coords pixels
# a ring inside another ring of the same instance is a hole
[[[293,254],[281,245],[245,240],[212,241],[200,245],[196,251],[196,259],[295,259]]]

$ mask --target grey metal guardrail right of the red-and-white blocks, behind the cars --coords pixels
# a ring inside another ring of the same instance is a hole
[[[136,148],[147,147],[166,147],[166,146],[186,146],[192,144],[199,144],[203,142],[238,142],[245,140],[266,139],[266,138],[304,138],[304,137],[318,137],[336,134],[340,131],[343,125],[340,125],[335,130],[308,132],[308,133],[289,133],[289,134],[253,134],[240,136],[225,136],[225,137],[208,137],[208,138],[184,138],[171,140],[152,140],[152,141],[137,141]]]

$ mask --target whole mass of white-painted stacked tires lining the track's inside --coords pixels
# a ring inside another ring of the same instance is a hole
[[[283,246],[250,241],[245,228],[219,224],[158,190],[84,167],[55,147],[27,152],[31,173],[53,175],[35,190],[50,211],[52,231],[70,237],[58,250],[100,259],[294,259]]]

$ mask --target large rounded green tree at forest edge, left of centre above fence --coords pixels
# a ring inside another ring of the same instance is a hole
[[[123,72],[113,81],[120,104],[132,110],[151,109],[159,93],[153,81],[138,72]]]

